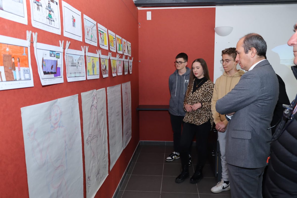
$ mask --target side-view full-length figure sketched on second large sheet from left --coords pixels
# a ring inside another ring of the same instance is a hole
[[[89,137],[86,140],[87,145],[91,147],[91,158],[89,163],[89,171],[88,171],[88,178],[87,178],[87,186],[88,190],[91,186],[91,174],[93,167],[95,169],[95,176],[96,181],[99,179],[100,169],[98,167],[98,151],[97,151],[97,142],[98,137],[101,138],[101,129],[99,127],[98,121],[98,113],[97,113],[97,91],[93,91],[92,93],[92,104],[90,108],[90,122],[89,122]]]

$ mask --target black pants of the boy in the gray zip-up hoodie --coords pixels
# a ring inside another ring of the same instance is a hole
[[[175,152],[180,152],[181,126],[184,124],[184,116],[170,114],[171,127],[173,131],[173,148]]]

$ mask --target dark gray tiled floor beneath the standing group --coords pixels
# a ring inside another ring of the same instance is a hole
[[[181,172],[180,159],[166,162],[173,151],[168,145],[140,145],[117,198],[230,198],[230,191],[218,194],[210,191],[217,184],[210,165],[203,168],[204,178],[198,184],[175,183]],[[197,163],[195,149],[192,149],[193,165],[190,177]]]

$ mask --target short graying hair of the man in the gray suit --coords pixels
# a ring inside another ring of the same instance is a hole
[[[257,50],[258,56],[266,58],[267,45],[263,37],[256,33],[245,35],[243,40],[244,53],[249,53],[249,50],[254,47]]]

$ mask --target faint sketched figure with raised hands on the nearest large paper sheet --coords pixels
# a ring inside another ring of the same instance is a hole
[[[43,140],[40,135],[45,129],[35,129],[34,124],[29,127],[28,133],[31,140],[32,154],[40,169],[47,172],[46,179],[49,197],[69,197],[67,187],[67,152],[70,151],[77,137],[78,129],[71,134],[61,123],[62,110],[59,105],[51,107],[49,121],[50,130]],[[36,138],[39,136],[38,138]],[[41,144],[41,142],[43,142]]]

